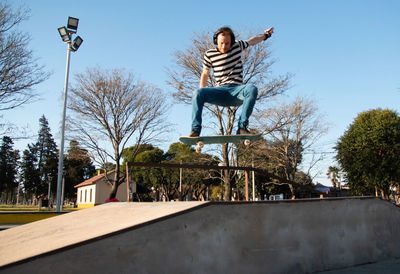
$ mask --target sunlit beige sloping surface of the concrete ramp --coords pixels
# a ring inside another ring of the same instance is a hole
[[[10,228],[0,232],[0,266],[135,227],[201,204],[108,203]]]

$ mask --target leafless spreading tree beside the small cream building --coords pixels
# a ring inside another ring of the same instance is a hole
[[[88,69],[76,81],[69,102],[71,133],[102,166],[111,158],[119,171],[122,152],[132,137],[138,145],[159,138],[166,130],[164,95],[136,81],[132,73]],[[123,180],[115,172],[110,199]]]

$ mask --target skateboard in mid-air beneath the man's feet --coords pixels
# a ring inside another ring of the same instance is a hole
[[[199,136],[189,137],[181,136],[179,141],[185,145],[197,145],[196,152],[200,153],[204,144],[225,144],[225,143],[239,143],[244,141],[246,146],[250,145],[252,141],[261,137],[261,134],[243,134],[243,135],[214,135],[214,136]]]

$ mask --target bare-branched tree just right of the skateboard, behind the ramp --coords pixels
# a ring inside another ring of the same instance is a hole
[[[271,141],[266,148],[270,163],[289,181],[295,181],[303,155],[311,152],[311,147],[328,130],[315,102],[301,97],[260,112],[257,121],[260,131]],[[291,184],[289,187],[294,198],[294,188]]]

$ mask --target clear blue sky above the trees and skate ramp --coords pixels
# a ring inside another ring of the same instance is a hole
[[[295,74],[287,96],[314,98],[332,126],[318,146],[327,154],[314,171],[316,181],[329,184],[326,171],[334,164],[334,146],[358,113],[372,108],[399,111],[400,1],[51,1],[13,0],[31,9],[20,29],[30,34],[30,48],[53,74],[36,87],[41,100],[4,112],[5,119],[38,131],[43,114],[59,142],[66,45],[57,28],[68,16],[77,17],[84,39],[71,56],[70,84],[86,68],[125,68],[166,93],[166,68],[172,53],[190,46],[195,32],[214,31],[222,25],[234,30],[262,31],[273,26],[270,40],[274,75]],[[246,37],[245,37],[246,38]],[[169,120],[176,124],[167,149],[190,131],[190,106],[175,105]],[[16,141],[25,149],[32,140]]]

